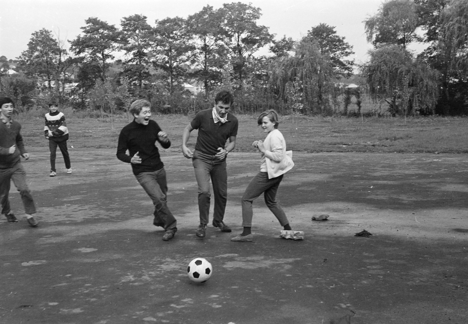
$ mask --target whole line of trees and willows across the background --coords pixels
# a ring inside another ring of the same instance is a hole
[[[102,116],[138,98],[162,113],[210,108],[220,88],[234,92],[241,112],[347,114],[351,95],[360,109],[364,94],[392,116],[468,112],[466,0],[382,3],[364,22],[374,49],[360,66],[348,59],[352,45],[333,26],[278,39],[258,24],[260,17],[260,8],[241,2],[154,24],[145,15],[123,17],[118,27],[90,17],[68,44],[41,29],[16,60],[0,58],[0,92],[23,109],[54,100]],[[415,56],[412,42],[427,49]],[[271,55],[258,55],[263,47]],[[12,62],[18,73],[7,74]],[[340,79],[355,68],[359,88],[344,89]]]

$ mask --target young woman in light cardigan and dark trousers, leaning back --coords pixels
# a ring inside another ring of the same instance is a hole
[[[252,241],[252,203],[262,193],[265,204],[276,216],[285,230],[291,230],[285,212],[276,201],[276,192],[283,179],[283,174],[292,169],[294,163],[291,151],[286,152],[286,142],[283,134],[278,131],[278,113],[267,110],[260,114],[257,124],[261,125],[264,133],[268,133],[265,140],[256,140],[253,147],[258,148],[262,154],[260,172],[250,181],[242,196],[242,226],[244,231],[231,239],[234,242]]]

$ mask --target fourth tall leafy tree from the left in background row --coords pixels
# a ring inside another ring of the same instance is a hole
[[[168,77],[169,93],[174,92],[186,77],[191,60],[190,35],[183,18],[165,18],[156,20],[154,28],[155,45],[153,47],[153,65],[163,70]]]

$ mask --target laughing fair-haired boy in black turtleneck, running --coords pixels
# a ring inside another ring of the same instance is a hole
[[[120,131],[117,158],[132,164],[133,174],[153,200],[153,224],[165,229],[162,239],[168,241],[176,234],[177,221],[167,205],[166,170],[161,162],[156,142],[164,148],[169,148],[171,142],[159,125],[149,119],[151,103],[143,99],[136,100],[130,106],[130,113],[134,119]],[[127,150],[130,155],[126,154]]]

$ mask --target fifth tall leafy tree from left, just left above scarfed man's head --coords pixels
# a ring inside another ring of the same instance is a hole
[[[187,18],[188,30],[194,39],[195,49],[193,62],[195,72],[192,74],[203,82],[205,98],[210,89],[221,82],[223,66],[227,64],[225,48],[221,44],[219,10],[212,6],[203,9]]]

